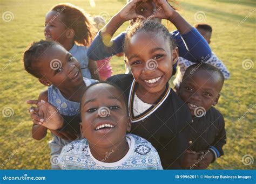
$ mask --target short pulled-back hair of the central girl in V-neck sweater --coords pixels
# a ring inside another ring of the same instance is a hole
[[[143,21],[142,19],[138,19],[126,33],[124,46],[123,46],[124,53],[127,53],[127,45],[129,44],[129,41],[131,40],[131,38],[135,34],[142,31],[148,32],[148,33],[154,33],[154,35],[161,34],[165,39],[169,40],[171,49],[176,47],[176,44],[174,42],[172,35],[163,24],[153,20]]]

